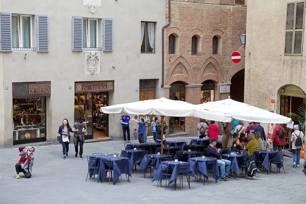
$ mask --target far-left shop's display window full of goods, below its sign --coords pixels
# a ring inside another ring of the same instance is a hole
[[[13,144],[46,141],[45,97],[13,99]]]

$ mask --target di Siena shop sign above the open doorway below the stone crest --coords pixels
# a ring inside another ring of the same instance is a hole
[[[75,93],[114,91],[114,81],[75,82]]]

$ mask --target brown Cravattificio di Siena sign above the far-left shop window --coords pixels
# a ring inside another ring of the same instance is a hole
[[[51,82],[13,83],[13,98],[51,95]]]

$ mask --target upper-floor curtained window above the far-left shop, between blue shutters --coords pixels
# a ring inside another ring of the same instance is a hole
[[[33,46],[32,16],[12,15],[13,50],[18,50],[17,48],[31,48],[32,46]]]

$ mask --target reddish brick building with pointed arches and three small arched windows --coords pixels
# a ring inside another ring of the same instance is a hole
[[[244,72],[244,58],[233,64],[231,54],[239,51],[244,56],[239,35],[245,29],[246,1],[172,0],[171,23],[166,28],[165,97],[184,96],[192,104],[227,98],[230,93],[220,93],[220,87],[231,85],[235,74]],[[244,79],[238,81],[240,85],[233,92],[242,90],[243,98]],[[196,135],[198,118],[168,119],[170,134]]]

